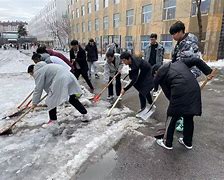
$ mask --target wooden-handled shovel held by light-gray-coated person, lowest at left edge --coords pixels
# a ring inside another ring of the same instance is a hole
[[[40,102],[43,101],[45,98],[47,97],[47,94],[41,98]],[[39,103],[40,103],[39,102]],[[2,129],[0,129],[0,135],[7,135],[7,134],[11,134],[12,133],[12,128],[15,126],[16,123],[18,123],[19,121],[21,121],[21,119],[28,114],[30,111],[32,110],[32,108],[30,107],[29,109],[27,109],[27,111],[22,114],[17,120],[15,120],[14,122],[12,122],[9,125],[6,125],[5,127],[3,127]]]

